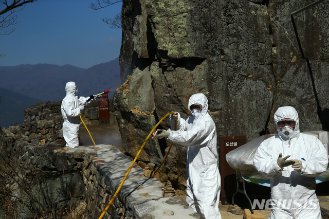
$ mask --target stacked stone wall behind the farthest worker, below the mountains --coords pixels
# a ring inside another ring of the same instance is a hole
[[[58,145],[64,147],[65,141],[63,138],[63,117],[61,113],[61,101],[54,102],[39,102],[36,105],[27,106],[25,108],[24,123],[9,126],[8,129],[3,129],[7,137],[14,139],[24,139],[28,143],[39,145]],[[109,99],[109,122],[115,122],[113,116],[114,106],[112,100]],[[81,112],[81,117],[85,124],[99,123],[99,107],[98,100],[92,104],[86,105]],[[80,125],[83,125],[81,122]]]

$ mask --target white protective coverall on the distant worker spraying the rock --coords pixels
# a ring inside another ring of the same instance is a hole
[[[76,83],[67,82],[65,86],[66,96],[62,101],[61,111],[64,119],[63,137],[66,147],[74,148],[79,146],[80,113],[79,108],[88,98],[76,96]]]

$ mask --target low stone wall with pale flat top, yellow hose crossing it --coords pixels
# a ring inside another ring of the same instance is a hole
[[[79,161],[77,167],[82,169],[88,213],[93,218],[99,218],[116,193],[132,160],[113,145],[106,144],[68,151]],[[145,177],[143,170],[134,163],[103,218],[199,218],[185,200],[174,197],[174,193],[171,185],[164,186],[156,178]]]

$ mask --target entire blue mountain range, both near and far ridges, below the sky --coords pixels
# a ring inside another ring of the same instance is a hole
[[[23,122],[25,106],[62,100],[68,81],[76,82],[78,96],[109,89],[110,99],[121,85],[119,58],[87,69],[51,64],[0,66],[0,77],[0,126],[6,128]]]

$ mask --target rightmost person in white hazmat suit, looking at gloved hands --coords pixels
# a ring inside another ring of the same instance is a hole
[[[315,177],[327,169],[327,152],[316,137],[299,132],[294,107],[279,107],[274,120],[278,135],[264,140],[253,159],[254,167],[270,178],[269,218],[320,219]]]

